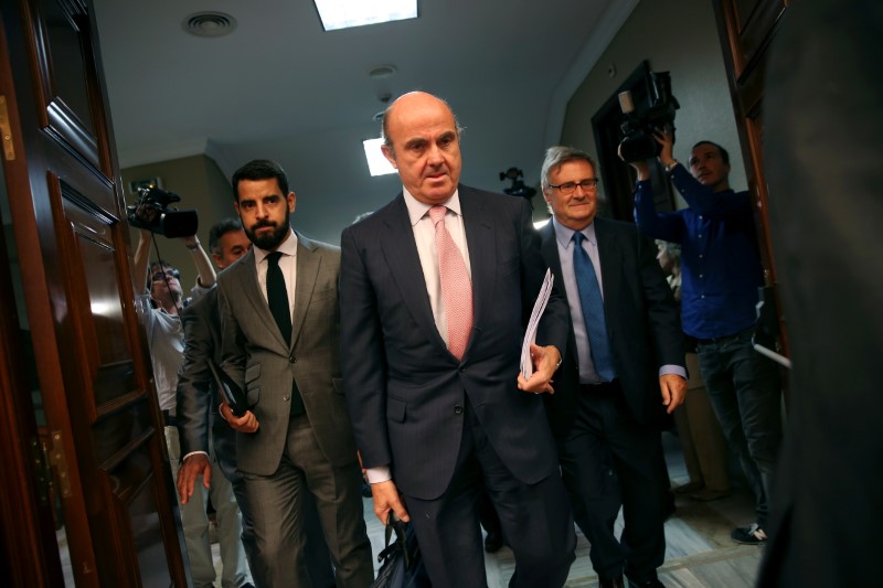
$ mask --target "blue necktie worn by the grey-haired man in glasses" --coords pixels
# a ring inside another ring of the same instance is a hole
[[[573,274],[579,290],[579,306],[583,307],[583,321],[586,323],[588,344],[592,348],[592,363],[595,372],[605,381],[616,377],[610,342],[607,340],[607,321],[604,319],[604,300],[600,297],[595,266],[583,249],[586,236],[576,231],[573,234]]]

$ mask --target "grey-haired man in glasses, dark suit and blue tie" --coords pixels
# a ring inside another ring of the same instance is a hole
[[[541,173],[553,214],[540,231],[543,257],[572,318],[546,407],[574,518],[602,586],[623,586],[623,573],[631,586],[661,586],[667,475],[658,420],[687,391],[678,307],[656,246],[635,225],[596,216],[598,179],[587,153],[552,147]],[[609,456],[621,489],[621,543]]]

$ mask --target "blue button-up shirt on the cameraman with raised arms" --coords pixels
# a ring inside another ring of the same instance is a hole
[[[698,339],[732,335],[754,324],[764,284],[748,192],[712,192],[683,165],[671,172],[689,207],[656,211],[649,181],[638,182],[635,221],[655,238],[681,244],[681,322]]]

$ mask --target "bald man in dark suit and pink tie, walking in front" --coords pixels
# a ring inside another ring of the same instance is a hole
[[[400,97],[383,132],[404,191],[343,231],[340,285],[347,403],[374,513],[412,521],[433,586],[485,586],[483,481],[515,554],[511,586],[562,586],[575,535],[542,393],[567,308],[552,296],[525,379],[521,341],[545,270],[530,207],[459,184],[444,100]]]

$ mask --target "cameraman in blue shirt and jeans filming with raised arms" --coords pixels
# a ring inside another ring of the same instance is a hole
[[[672,157],[671,135],[658,133],[657,141],[659,161],[689,207],[657,212],[649,163],[637,161],[635,221],[647,235],[682,246],[683,330],[698,340],[714,411],[757,498],[755,523],[731,536],[762,544],[781,441],[781,387],[776,364],[752,345],[757,288],[764,284],[752,199],[730,188],[730,156],[721,146],[693,146],[688,172]]]

